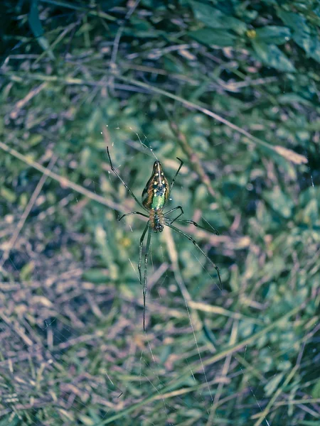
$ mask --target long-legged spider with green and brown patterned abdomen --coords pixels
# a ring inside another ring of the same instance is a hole
[[[181,215],[183,214],[183,208],[181,206],[174,207],[174,209],[169,210],[169,212],[164,213],[164,207],[166,206],[166,203],[169,200],[169,197],[171,195],[172,187],[174,186],[174,181],[176,180],[176,177],[178,176],[178,173],[183,165],[183,161],[180,160],[180,158],[177,157],[177,160],[180,161],[180,165],[178,166],[178,170],[176,171],[176,174],[174,175],[174,179],[171,182],[171,185],[169,187],[168,180],[166,180],[166,177],[164,175],[164,170],[162,168],[162,165],[160,161],[156,160],[154,162],[154,168],[152,170],[152,174],[148,182],[146,182],[146,186],[144,187],[144,190],[142,192],[142,202],[139,202],[137,197],[134,195],[132,190],[128,187],[126,182],[122,180],[119,173],[117,173],[117,170],[112,165],[111,157],[109,148],[107,147],[107,154],[110,161],[111,170],[113,173],[117,176],[117,178],[122,182],[124,187],[127,188],[129,194],[134,198],[134,200],[139,204],[139,206],[144,209],[144,211],[147,214],[144,214],[142,212],[131,212],[127,214],[122,214],[121,217],[118,217],[118,220],[120,221],[124,217],[131,216],[132,214],[140,214],[140,216],[146,217],[148,219],[148,222],[146,222],[146,226],[144,228],[144,231],[142,232],[142,236],[140,237],[140,248],[139,248],[139,261],[138,261],[138,271],[139,271],[139,281],[140,284],[143,284],[143,295],[144,295],[144,331],[145,328],[145,316],[146,316],[146,278],[148,275],[148,258],[149,258],[149,248],[150,248],[150,242],[151,242],[151,231],[154,232],[162,232],[164,230],[164,226],[169,226],[169,228],[176,231],[178,234],[183,235],[188,240],[192,241],[193,244],[196,246],[196,248],[201,251],[203,256],[205,256],[208,261],[214,266],[215,271],[217,271],[218,278],[220,281],[220,288],[222,288],[222,282],[220,278],[220,271],[218,269],[218,266],[211,261],[211,259],[206,255],[206,253],[201,249],[200,246],[198,246],[198,243],[196,240],[192,238],[191,235],[186,234],[186,232],[181,231],[181,229],[176,228],[176,226],[173,225],[174,222],[182,222],[183,224],[193,224],[194,226],[197,226],[198,228],[204,229],[205,231],[208,231],[208,229],[203,228],[203,226],[198,225],[196,222],[193,222],[193,220],[186,220],[186,219],[179,219]],[[171,219],[170,217],[167,217],[168,214],[171,214],[173,212],[176,212],[176,210],[179,210],[179,214],[174,219]],[[218,231],[213,229],[215,231],[215,234],[218,235]],[[146,232],[148,232],[146,236]],[[146,251],[144,254],[144,281],[142,283],[142,270],[141,270],[141,264],[142,264],[142,249],[144,245],[144,237],[146,236]]]

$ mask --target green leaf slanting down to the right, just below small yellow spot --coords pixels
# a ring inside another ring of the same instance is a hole
[[[257,58],[268,67],[275,68],[284,72],[295,72],[295,68],[289,61],[286,55],[282,53],[276,45],[261,43],[257,40],[252,40],[252,46],[255,50]]]

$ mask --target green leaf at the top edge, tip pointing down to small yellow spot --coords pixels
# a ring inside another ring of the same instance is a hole
[[[191,1],[191,7],[196,18],[211,28],[233,29],[239,34],[245,33],[247,26],[233,16],[227,15],[210,4]]]

